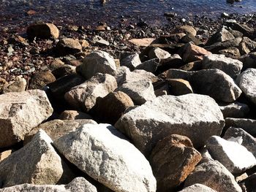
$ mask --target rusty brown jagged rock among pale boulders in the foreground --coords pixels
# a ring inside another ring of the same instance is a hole
[[[157,142],[150,155],[157,191],[173,191],[186,180],[200,159],[200,153],[187,137],[172,134]]]

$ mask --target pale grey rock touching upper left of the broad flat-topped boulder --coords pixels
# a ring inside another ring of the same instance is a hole
[[[144,104],[146,101],[151,101],[156,98],[154,87],[150,80],[138,80],[133,82],[125,82],[117,89],[127,93],[135,104]]]

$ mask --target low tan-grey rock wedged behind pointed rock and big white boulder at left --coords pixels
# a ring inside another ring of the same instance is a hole
[[[97,124],[94,120],[80,119],[80,120],[50,120],[48,122],[42,123],[41,125],[33,128],[29,134],[26,135],[24,139],[24,144],[31,141],[35,134],[42,129],[46,134],[49,135],[53,141],[59,137],[67,134],[71,131],[75,131],[80,126],[84,124]]]

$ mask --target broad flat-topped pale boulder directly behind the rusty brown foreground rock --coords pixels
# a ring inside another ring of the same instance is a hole
[[[159,139],[170,134],[187,136],[200,147],[211,135],[219,135],[223,126],[214,99],[197,94],[159,96],[130,110],[115,125],[146,156]]]

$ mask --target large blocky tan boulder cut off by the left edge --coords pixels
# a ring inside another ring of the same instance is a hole
[[[45,91],[33,90],[0,95],[0,147],[14,145],[46,120],[53,108]]]

